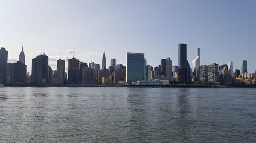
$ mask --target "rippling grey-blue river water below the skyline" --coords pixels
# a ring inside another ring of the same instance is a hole
[[[1,87],[0,142],[254,142],[255,93]]]

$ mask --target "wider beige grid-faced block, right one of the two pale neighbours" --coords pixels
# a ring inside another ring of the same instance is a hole
[[[210,64],[208,65],[208,81],[218,83],[219,82],[219,65],[218,64]],[[225,66],[224,66],[225,67]]]

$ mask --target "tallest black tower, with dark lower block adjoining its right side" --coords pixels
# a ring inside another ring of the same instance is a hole
[[[190,66],[187,61],[187,44],[179,44],[178,51],[179,51],[178,80],[183,83],[189,83],[190,82]]]

